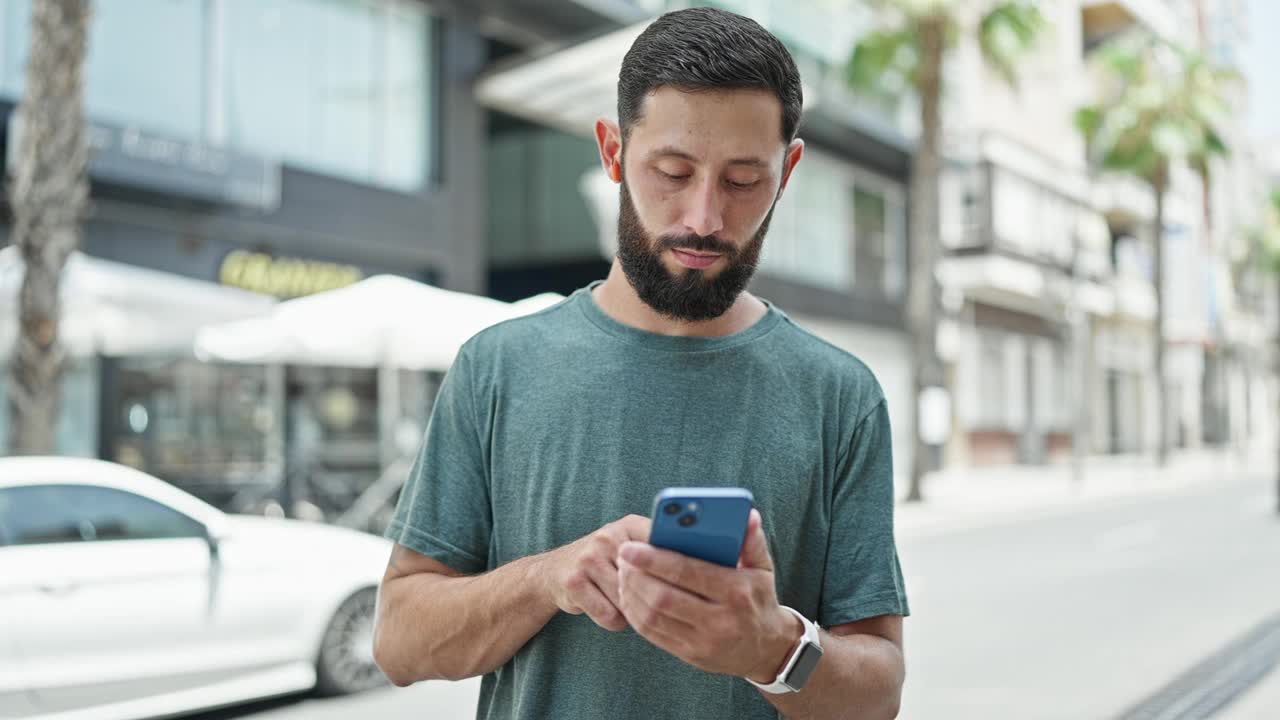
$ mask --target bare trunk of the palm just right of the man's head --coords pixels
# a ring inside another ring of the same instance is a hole
[[[924,474],[932,466],[933,447],[920,438],[919,398],[924,388],[943,382],[942,368],[934,347],[937,342],[937,263],[938,245],[938,182],[942,173],[942,54],[946,23],[942,17],[920,20],[920,145],[911,160],[911,283],[908,296],[908,329],[911,333],[913,386],[915,413],[911,437],[911,482],[906,500],[924,498]]]

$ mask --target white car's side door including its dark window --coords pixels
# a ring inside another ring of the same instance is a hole
[[[205,528],[110,487],[0,489],[0,606],[40,710],[209,682],[215,582]]]

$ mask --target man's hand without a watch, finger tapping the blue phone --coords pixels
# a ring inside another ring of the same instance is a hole
[[[627,515],[541,556],[541,573],[556,606],[571,615],[586,612],[605,630],[627,626],[618,601],[618,547],[649,541],[649,518]]]

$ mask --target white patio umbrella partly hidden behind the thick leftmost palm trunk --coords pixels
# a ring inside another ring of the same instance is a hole
[[[17,247],[0,249],[0,357],[18,337],[18,293],[26,264]],[[189,354],[209,323],[268,311],[275,300],[72,252],[61,277],[59,342],[74,356]]]

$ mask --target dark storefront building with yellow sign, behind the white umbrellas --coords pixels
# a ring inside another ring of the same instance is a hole
[[[412,0],[161,5],[93,14],[86,255],[276,299],[380,273],[485,290],[475,27]],[[6,3],[4,118],[27,27]],[[59,452],[329,516],[420,441],[438,379],[93,354],[64,377]]]

